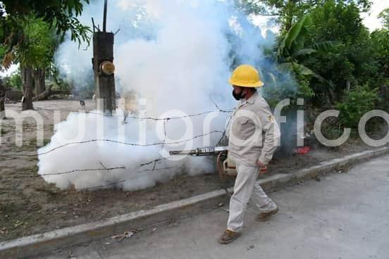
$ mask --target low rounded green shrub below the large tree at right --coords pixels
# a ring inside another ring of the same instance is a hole
[[[362,116],[373,110],[377,102],[378,89],[369,89],[367,85],[347,92],[343,101],[336,103],[336,108],[340,110],[340,125],[357,128]]]

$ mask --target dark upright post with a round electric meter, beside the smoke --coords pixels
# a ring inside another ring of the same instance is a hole
[[[103,31],[93,25],[93,70],[94,89],[98,102],[97,108],[112,114],[116,109],[115,66],[113,65],[113,32],[106,32],[107,0],[104,1]],[[93,20],[92,20],[93,21]]]

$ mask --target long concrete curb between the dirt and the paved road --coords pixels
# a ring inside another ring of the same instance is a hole
[[[270,191],[292,182],[317,177],[326,172],[339,170],[354,163],[382,156],[385,153],[389,153],[389,147],[364,151],[345,156],[344,158],[335,158],[295,173],[271,175],[270,177],[259,179],[258,182],[266,191]],[[230,188],[228,191],[233,191],[233,189]],[[139,210],[133,213],[118,215],[107,220],[66,227],[33,236],[23,236],[19,239],[1,242],[0,258],[29,258],[34,255],[54,251],[58,248],[82,244],[122,233],[127,229],[147,227],[158,222],[178,219],[183,215],[195,213],[199,209],[214,208],[221,201],[226,201],[226,191],[223,189],[162,204],[149,210]]]

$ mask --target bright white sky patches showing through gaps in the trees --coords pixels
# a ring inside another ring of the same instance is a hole
[[[371,6],[371,10],[369,13],[362,13],[363,23],[366,27],[369,28],[369,30],[372,32],[373,30],[376,30],[380,27],[382,27],[381,21],[378,19],[378,14],[383,11],[385,8],[389,8],[389,1],[388,0],[373,0],[373,4]],[[266,23],[267,17],[259,16],[252,17],[253,23],[257,26],[259,26],[262,30],[262,34],[266,34],[266,30],[268,30],[268,25]],[[279,27],[271,27],[270,30],[272,30],[274,33],[278,32]],[[11,65],[11,68],[8,70],[0,71],[0,76],[4,77],[7,75],[11,75],[11,73],[15,72],[18,69],[18,65]]]

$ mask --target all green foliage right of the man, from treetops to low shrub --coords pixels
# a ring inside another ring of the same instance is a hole
[[[343,127],[357,128],[369,110],[389,109],[389,8],[380,15],[383,29],[370,34],[360,13],[371,1],[238,2],[247,13],[279,15],[276,53],[266,53],[278,63],[277,72],[262,75],[262,91],[272,107],[285,98],[291,98],[288,108],[302,97],[316,107],[335,103],[340,116],[325,130],[332,139]]]

